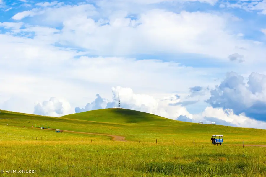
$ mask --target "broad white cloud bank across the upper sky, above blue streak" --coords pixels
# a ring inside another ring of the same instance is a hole
[[[238,46],[247,49],[242,55],[247,63],[253,63],[254,58],[261,60],[259,56],[265,55],[266,51],[254,41],[241,39],[238,34],[231,35],[228,25],[235,17],[226,14],[173,13],[154,9],[132,20],[126,17],[126,12],[116,12],[108,17],[109,24],[106,25],[106,20],[91,18],[97,14],[93,6],[83,4],[49,8],[42,13],[25,11],[25,15],[16,14],[13,18],[36,14],[43,14],[46,23],[64,25],[61,33],[53,36],[57,42],[82,47],[96,55],[198,53],[226,60],[228,55],[239,52]]]

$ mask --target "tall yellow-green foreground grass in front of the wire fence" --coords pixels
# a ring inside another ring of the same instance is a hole
[[[31,176],[266,176],[263,147],[0,141],[0,149],[0,169],[36,170]]]

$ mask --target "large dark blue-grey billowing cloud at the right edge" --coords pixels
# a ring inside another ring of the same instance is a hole
[[[227,73],[224,81],[211,90],[207,100],[214,108],[232,109],[236,114],[265,120],[266,115],[266,76],[251,73],[248,82],[237,73]]]

